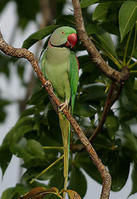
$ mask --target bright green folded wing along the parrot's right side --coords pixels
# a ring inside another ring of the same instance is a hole
[[[78,80],[79,80],[79,75],[78,75],[78,60],[73,51],[70,53],[70,73],[69,73],[69,78],[70,78],[70,88],[71,88],[71,112],[73,114],[74,110],[74,104],[75,104],[75,97],[77,93],[77,87],[78,87]]]

